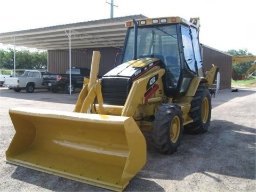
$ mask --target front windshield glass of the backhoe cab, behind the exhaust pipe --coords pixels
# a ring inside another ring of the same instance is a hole
[[[123,62],[133,58],[134,29],[131,28],[125,45]],[[154,57],[161,55],[165,65],[167,57],[175,58],[175,65],[179,60],[176,25],[138,27],[137,57]]]

